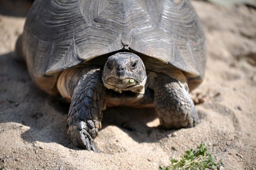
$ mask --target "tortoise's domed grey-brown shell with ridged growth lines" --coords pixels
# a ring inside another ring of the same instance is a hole
[[[30,75],[49,93],[62,70],[123,48],[204,77],[205,35],[189,0],[36,0],[22,44]]]

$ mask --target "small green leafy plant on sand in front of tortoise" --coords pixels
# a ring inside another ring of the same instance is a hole
[[[216,170],[221,166],[221,161],[215,162],[205,144],[200,144],[193,151],[186,151],[185,155],[179,155],[179,159],[171,159],[171,165],[159,167],[159,170]]]

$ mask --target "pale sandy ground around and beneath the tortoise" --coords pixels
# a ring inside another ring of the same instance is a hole
[[[208,144],[224,170],[256,169],[256,10],[193,1],[208,41],[205,81],[191,93],[200,122],[164,131],[154,110],[112,108],[96,138],[100,153],[66,135],[68,104],[40,91],[14,46],[25,17],[0,10],[0,168],[5,170],[157,170]],[[17,7],[16,7],[17,8]],[[148,135],[147,132],[152,133]]]

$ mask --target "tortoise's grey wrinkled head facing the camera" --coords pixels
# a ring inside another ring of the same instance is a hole
[[[102,73],[104,86],[119,93],[144,93],[146,78],[143,61],[136,54],[129,52],[119,52],[110,56]]]

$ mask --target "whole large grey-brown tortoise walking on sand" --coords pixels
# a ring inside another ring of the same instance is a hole
[[[36,0],[16,51],[34,83],[69,101],[67,133],[98,152],[106,107],[153,107],[166,129],[194,127],[205,35],[189,0]]]

